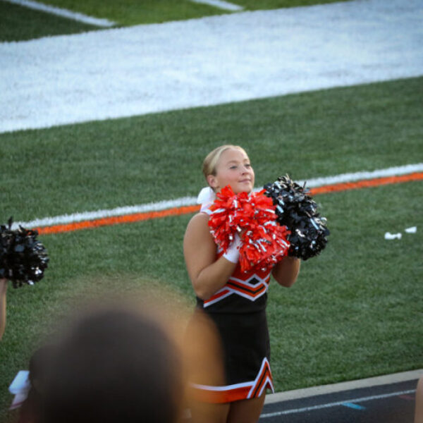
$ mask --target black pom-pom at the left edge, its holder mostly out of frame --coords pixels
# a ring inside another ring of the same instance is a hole
[[[7,226],[0,226],[0,278],[12,281],[13,288],[33,285],[43,278],[47,269],[47,250],[37,240],[37,231],[22,226],[12,230],[11,226],[12,218]]]

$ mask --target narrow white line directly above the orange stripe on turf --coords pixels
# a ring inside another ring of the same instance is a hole
[[[333,183],[354,182],[355,180],[365,180],[372,178],[383,178],[386,176],[399,176],[409,173],[423,171],[423,163],[407,164],[405,166],[396,166],[386,169],[379,169],[372,172],[342,173],[337,176],[327,176],[326,178],[312,178],[307,180],[307,187],[315,188]],[[305,181],[299,180],[303,185]],[[261,188],[256,188],[260,190]],[[125,214],[159,212],[160,210],[171,209],[173,207],[190,206],[197,203],[197,197],[181,197],[176,200],[164,200],[160,202],[151,202],[135,206],[116,207],[115,209],[97,210],[96,212],[82,212],[73,214],[63,214],[61,216],[44,217],[28,222],[15,222],[12,228],[16,229],[19,225],[25,228],[35,228],[40,226],[62,225],[79,221],[89,221],[94,219],[103,219],[105,217],[123,216]]]

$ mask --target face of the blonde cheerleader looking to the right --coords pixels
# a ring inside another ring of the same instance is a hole
[[[233,192],[251,192],[254,188],[254,171],[247,154],[240,149],[227,149],[216,164],[216,175],[207,176],[207,182],[217,192],[231,185]]]

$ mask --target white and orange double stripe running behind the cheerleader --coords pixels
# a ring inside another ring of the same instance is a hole
[[[348,175],[348,182],[346,175]],[[374,176],[381,176],[376,177]],[[373,177],[371,179],[357,180],[358,177]],[[391,183],[403,183],[410,180],[423,180],[423,163],[396,166],[379,169],[373,172],[343,173],[338,176],[315,178],[308,181],[311,195],[370,188]],[[334,181],[340,181],[333,183]],[[300,185],[304,182],[299,181]],[[313,187],[313,188],[312,188]],[[261,188],[256,188],[259,190]],[[96,212],[82,212],[64,214],[61,216],[46,217],[33,221],[13,223],[12,228],[23,226],[37,228],[40,234],[77,231],[80,229],[109,226],[117,223],[130,223],[149,219],[158,219],[166,216],[195,213],[199,209],[196,197],[181,197],[176,200],[166,200],[139,204],[135,206],[116,207],[115,209],[97,210]]]

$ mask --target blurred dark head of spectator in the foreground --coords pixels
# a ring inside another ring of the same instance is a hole
[[[176,342],[152,316],[97,309],[66,331],[49,359],[44,423],[178,421],[182,360]]]

